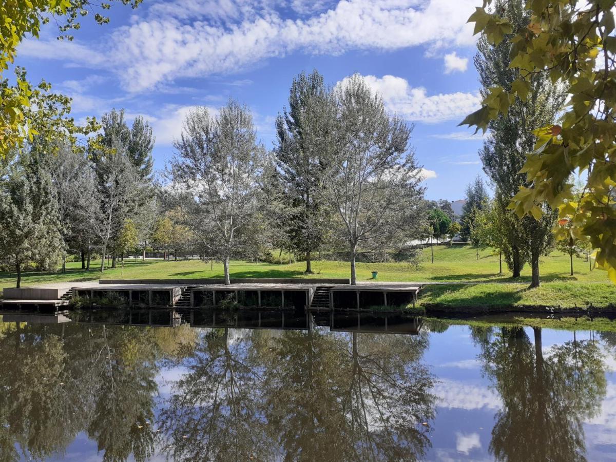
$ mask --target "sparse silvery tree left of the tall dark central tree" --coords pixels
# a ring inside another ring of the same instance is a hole
[[[174,185],[184,195],[187,225],[201,243],[224,263],[253,246],[246,231],[259,211],[265,149],[257,143],[253,118],[245,106],[229,100],[213,117],[205,107],[186,116],[182,137],[174,144]]]

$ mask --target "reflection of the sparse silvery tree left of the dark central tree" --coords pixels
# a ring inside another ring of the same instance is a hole
[[[174,460],[269,460],[249,331],[209,332],[187,368],[161,411],[164,450]]]

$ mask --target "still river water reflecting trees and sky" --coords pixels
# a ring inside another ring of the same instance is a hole
[[[4,317],[0,460],[616,460],[613,333],[126,316]]]

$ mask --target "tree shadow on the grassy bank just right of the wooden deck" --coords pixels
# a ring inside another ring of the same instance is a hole
[[[481,284],[425,286],[421,298],[428,302],[452,307],[511,307],[522,300],[527,288],[511,288],[509,291],[486,292]],[[460,293],[463,291],[464,293]]]

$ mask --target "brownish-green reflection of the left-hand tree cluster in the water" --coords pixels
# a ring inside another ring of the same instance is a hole
[[[81,431],[103,460],[150,458],[161,345],[185,348],[190,334],[161,340],[152,328],[2,324],[0,461],[62,455]]]

